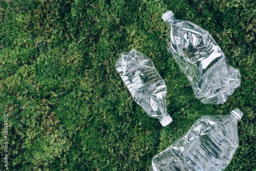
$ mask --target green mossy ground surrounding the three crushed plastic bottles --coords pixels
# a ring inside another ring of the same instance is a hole
[[[0,169],[148,170],[151,159],[202,115],[234,108],[240,145],[225,170],[256,170],[255,2],[250,0],[0,1]],[[240,70],[222,105],[203,104],[167,53],[162,14],[210,32]],[[173,122],[162,127],[133,100],[115,70],[123,51],[150,57],[167,84]]]

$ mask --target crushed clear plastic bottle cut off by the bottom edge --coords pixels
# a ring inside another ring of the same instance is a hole
[[[202,116],[190,130],[152,159],[150,170],[224,170],[238,148],[239,109]]]

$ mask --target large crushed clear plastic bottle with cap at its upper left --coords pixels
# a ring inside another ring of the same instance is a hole
[[[204,104],[223,104],[240,86],[239,70],[228,66],[208,31],[176,19],[172,11],[162,18],[168,30],[167,50],[187,76],[196,98]]]

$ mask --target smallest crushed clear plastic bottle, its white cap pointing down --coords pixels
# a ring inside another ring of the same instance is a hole
[[[150,58],[133,49],[122,52],[115,67],[133,99],[150,117],[158,118],[163,126],[173,121],[167,114],[165,82]]]

